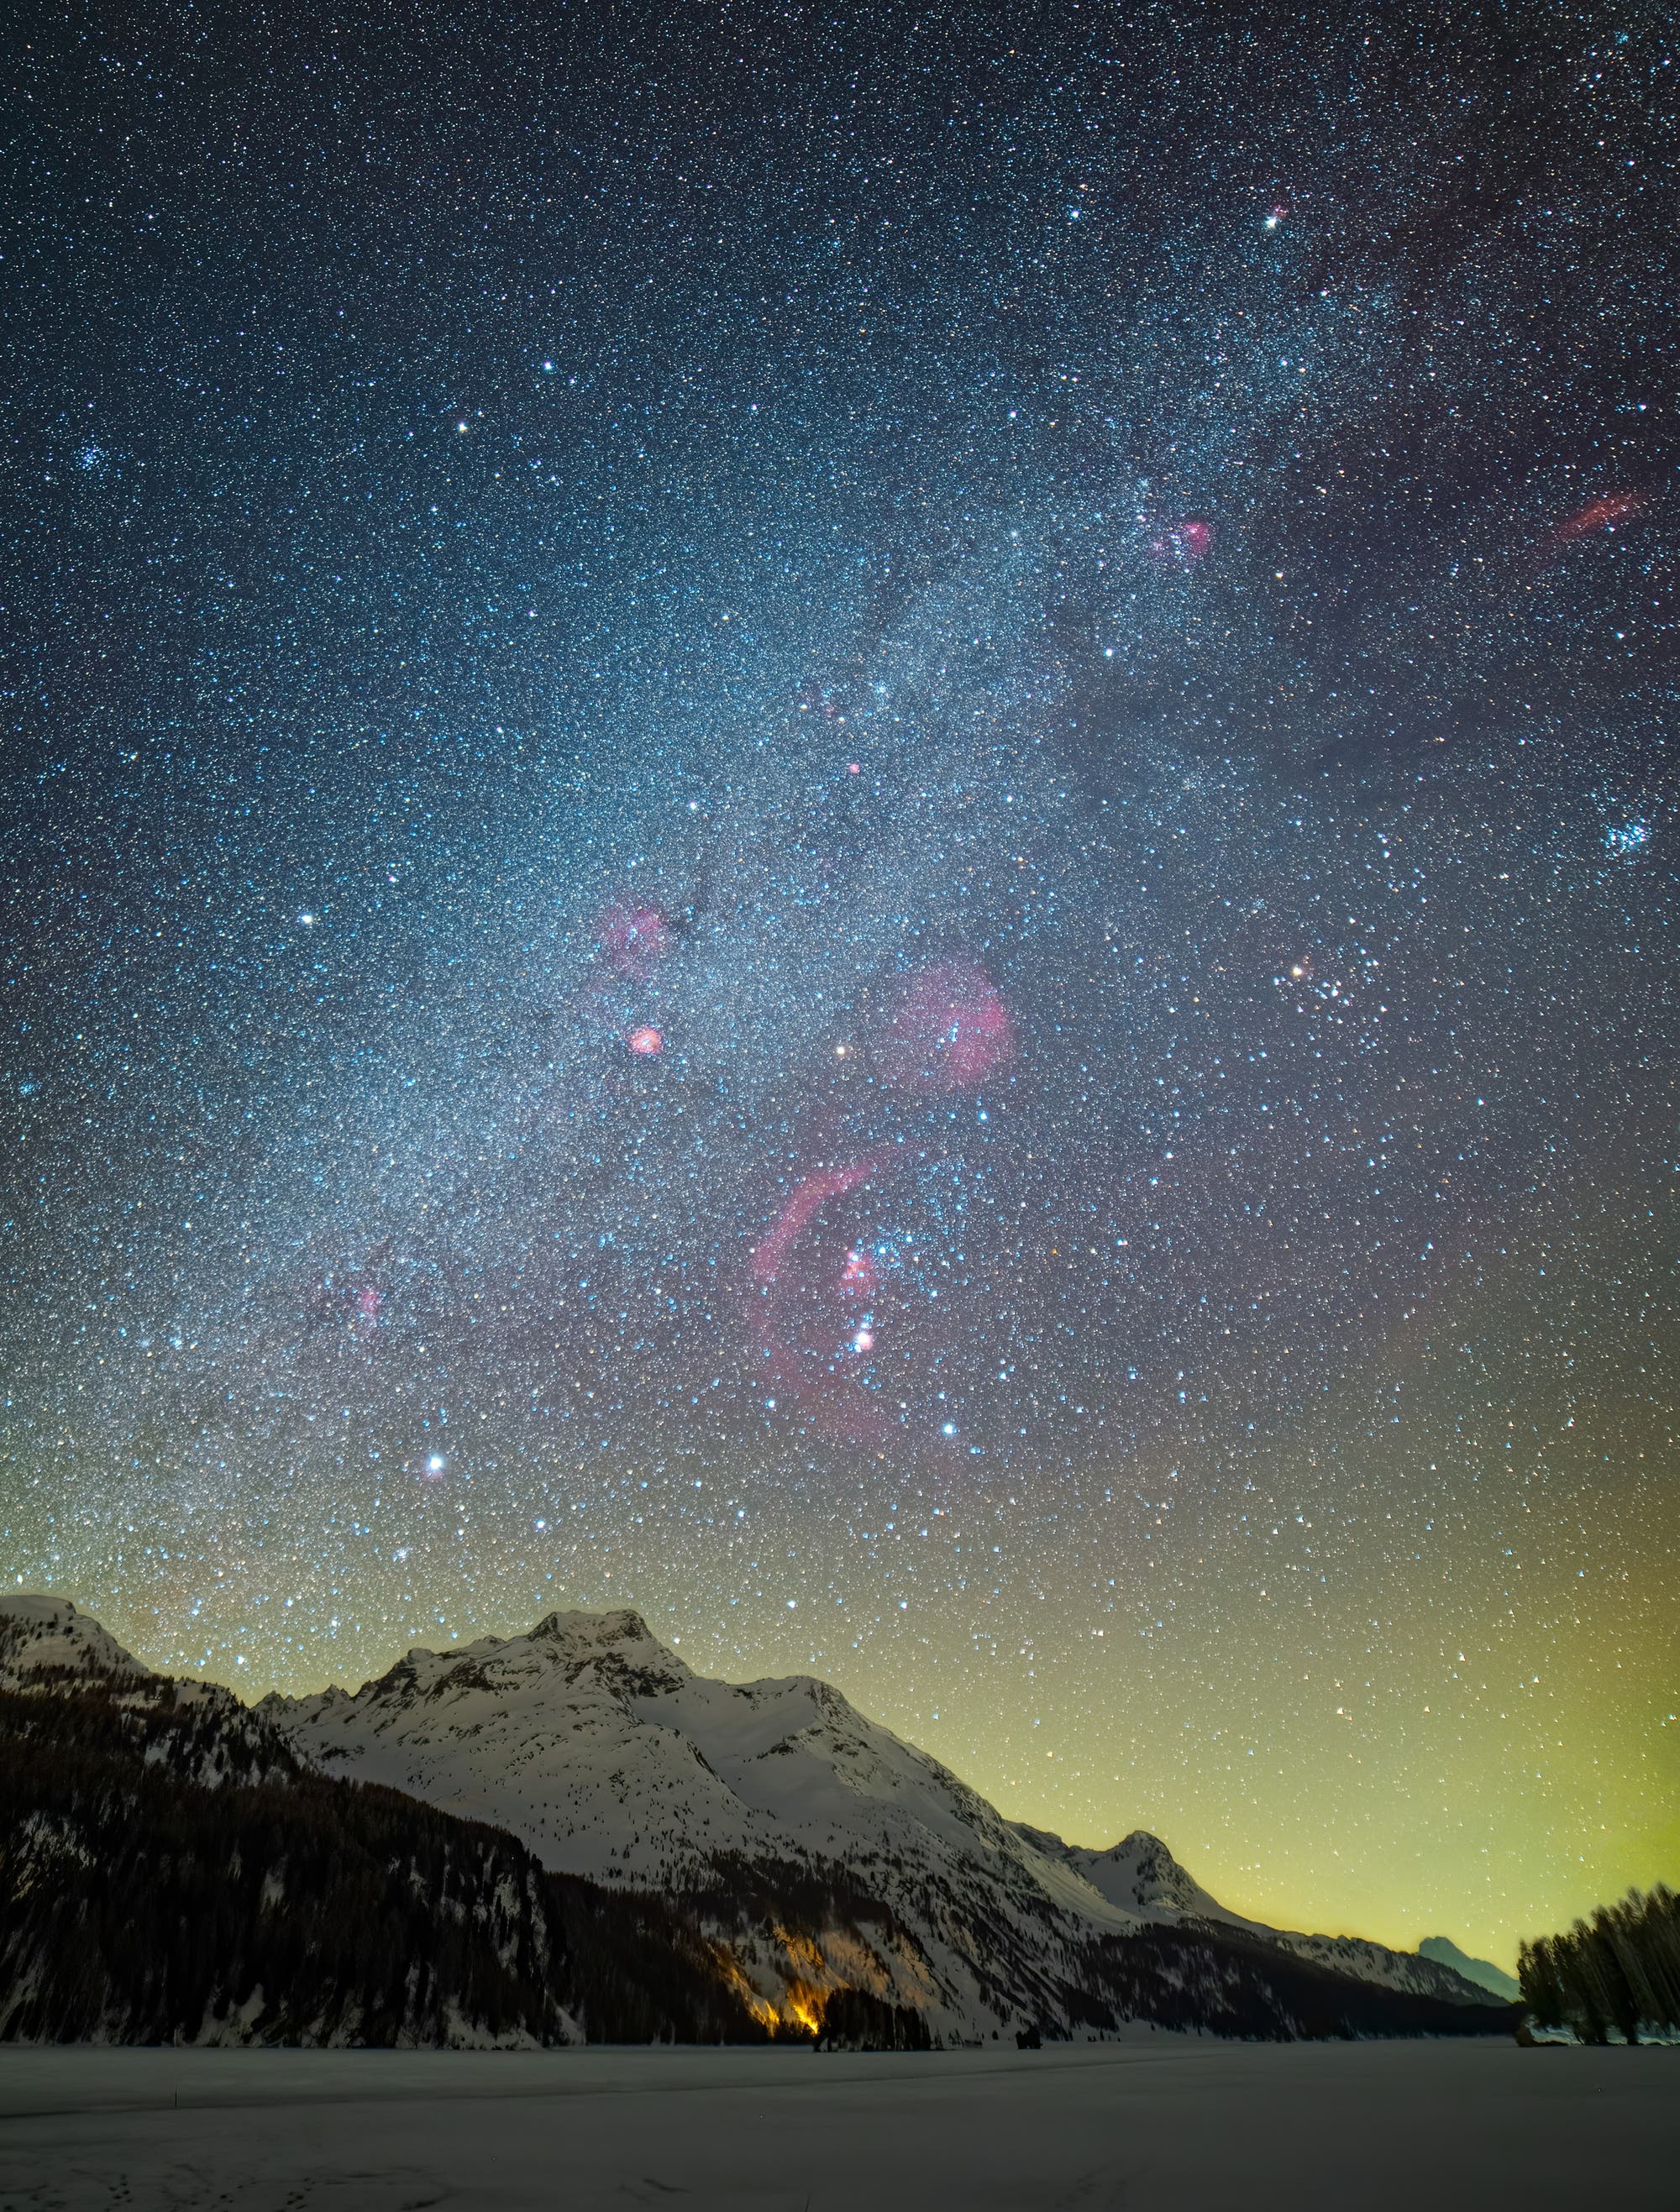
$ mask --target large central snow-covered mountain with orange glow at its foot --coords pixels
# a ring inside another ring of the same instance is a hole
[[[259,1712],[323,1772],[511,1829],[553,1869],[682,1898],[784,2020],[868,1986],[947,2039],[1067,2031],[1102,2017],[1116,1942],[1164,1927],[1485,2002],[1414,1953],[1226,1911],[1155,1836],[1089,1851],[1009,1823],[830,1683],[711,1681],[635,1613],[553,1613],[525,1637],[412,1650],[354,1697]]]

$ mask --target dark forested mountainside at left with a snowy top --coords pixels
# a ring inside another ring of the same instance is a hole
[[[228,1690],[0,1599],[0,2042],[761,2039],[655,1898],[328,1781]]]

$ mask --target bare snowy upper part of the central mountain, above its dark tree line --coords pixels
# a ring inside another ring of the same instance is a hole
[[[956,1854],[1043,1902],[1129,1918],[830,1683],[708,1681],[635,1613],[551,1613],[529,1637],[412,1650],[356,1697],[259,1710],[328,1772],[447,1796],[595,1880],[686,1880],[728,1851]]]

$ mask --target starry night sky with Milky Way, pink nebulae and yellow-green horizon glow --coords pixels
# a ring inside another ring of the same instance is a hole
[[[1676,1876],[1662,9],[24,9],[7,1579]]]

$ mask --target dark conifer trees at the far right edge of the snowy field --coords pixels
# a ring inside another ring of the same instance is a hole
[[[1583,2044],[1680,2033],[1680,1898],[1662,1882],[1629,1889],[1563,1936],[1516,1949],[1523,2002],[1541,2028],[1572,2028]]]

